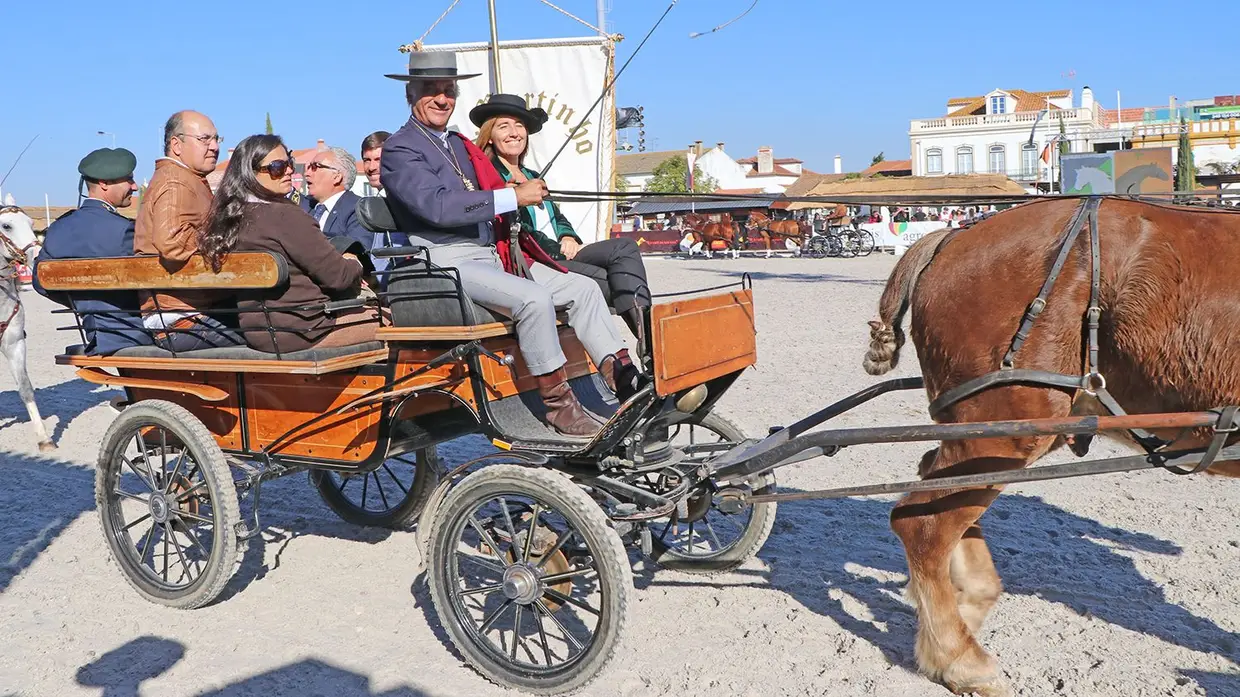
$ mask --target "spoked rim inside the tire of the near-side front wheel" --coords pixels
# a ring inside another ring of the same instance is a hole
[[[448,525],[454,548],[439,563],[453,621],[475,646],[539,677],[569,671],[590,652],[608,590],[577,525],[522,494],[480,499]]]

